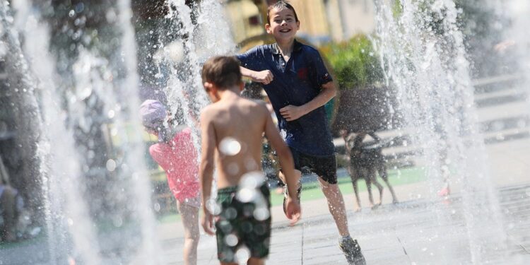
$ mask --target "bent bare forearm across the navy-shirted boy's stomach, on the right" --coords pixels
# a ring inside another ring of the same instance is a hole
[[[299,119],[305,114],[316,110],[318,107],[326,104],[331,98],[337,95],[337,88],[333,81],[322,85],[322,91],[310,102],[305,103],[301,106],[288,105],[280,109],[280,113],[285,120],[288,122]]]

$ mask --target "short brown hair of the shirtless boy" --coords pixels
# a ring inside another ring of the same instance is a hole
[[[203,83],[213,83],[220,89],[239,86],[241,77],[240,61],[235,57],[212,57],[202,67]]]

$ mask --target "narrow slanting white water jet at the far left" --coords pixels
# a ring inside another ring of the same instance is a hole
[[[91,218],[88,214],[86,201],[81,197],[81,170],[78,163],[78,154],[75,152],[72,131],[66,129],[66,115],[62,112],[57,102],[59,94],[54,83],[55,73],[54,61],[49,57],[46,47],[49,43],[47,28],[40,24],[40,17],[31,13],[30,4],[27,1],[16,3],[17,24],[19,31],[25,33],[25,54],[27,54],[31,73],[39,81],[38,88],[41,91],[42,109],[44,112],[45,141],[40,146],[45,146],[42,155],[47,158],[49,172],[47,175],[47,187],[49,191],[47,208],[48,228],[57,227],[56,235],[49,235],[50,249],[62,254],[78,253],[78,258],[87,264],[100,264],[96,234],[93,230]],[[63,162],[63,163],[61,163]],[[55,199],[52,199],[55,198]],[[53,209],[53,210],[52,210]],[[59,223],[58,223],[59,222]],[[61,229],[69,228],[61,231]],[[75,247],[66,247],[65,235],[69,231],[73,238]],[[59,240],[64,242],[60,242]],[[60,247],[66,247],[61,250]],[[75,250],[74,250],[75,249]],[[63,256],[61,254],[58,257]],[[60,262],[59,259],[52,259]]]

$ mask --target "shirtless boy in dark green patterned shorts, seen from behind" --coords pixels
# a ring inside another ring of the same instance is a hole
[[[204,209],[201,225],[210,235],[214,234],[215,225],[221,264],[244,262],[237,260],[241,251],[249,252],[247,264],[264,264],[269,255],[271,204],[261,173],[263,135],[276,149],[289,194],[293,194],[287,198],[285,212],[293,223],[300,218],[295,195],[298,179],[290,150],[266,105],[240,97],[241,77],[235,57],[213,57],[203,67],[204,88],[213,104],[201,112],[199,177]],[[216,201],[210,199],[214,167],[217,167]]]

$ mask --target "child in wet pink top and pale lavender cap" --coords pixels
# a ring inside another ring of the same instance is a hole
[[[165,171],[167,184],[177,199],[177,209],[184,225],[184,264],[194,265],[199,244],[201,187],[192,130],[173,126],[172,118],[158,100],[144,101],[140,114],[146,131],[158,136],[158,143],[149,147],[149,153]]]

